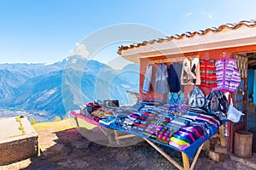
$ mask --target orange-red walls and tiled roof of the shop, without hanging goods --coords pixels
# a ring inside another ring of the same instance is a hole
[[[154,90],[154,83],[148,94],[143,93],[143,78],[147,71],[148,63],[173,59],[183,60],[189,56],[199,56],[200,59],[221,59],[223,57],[236,59],[237,69],[241,76],[241,82],[235,92],[229,96],[233,99],[236,108],[245,115],[241,116],[240,122],[228,122],[224,126],[225,147],[233,150],[234,132],[239,129],[246,129],[247,125],[247,68],[255,61],[256,52],[256,20],[242,20],[234,24],[225,24],[218,27],[207,28],[206,30],[185,32],[181,35],[173,35],[150,41],[138,42],[119,47],[118,54],[123,58],[140,64],[140,88],[139,99],[163,99],[165,101],[184,99],[193,89],[191,85],[185,85],[183,92],[158,94]],[[170,65],[172,62],[166,62]],[[153,67],[153,71],[155,72]],[[169,67],[168,67],[169,68]],[[152,80],[155,79],[153,73]],[[255,80],[253,80],[255,81]],[[212,91],[210,87],[201,87],[207,96]],[[253,92],[256,93],[255,88]]]

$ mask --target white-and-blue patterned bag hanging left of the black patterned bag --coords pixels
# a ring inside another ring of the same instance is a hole
[[[203,107],[206,102],[205,94],[201,88],[195,86],[188,94],[187,101],[191,107]]]

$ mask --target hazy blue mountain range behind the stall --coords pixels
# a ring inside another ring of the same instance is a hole
[[[114,70],[78,55],[52,65],[1,64],[0,107],[50,121],[94,99],[119,99],[120,105],[128,105],[126,91],[137,92],[138,82],[137,64]]]

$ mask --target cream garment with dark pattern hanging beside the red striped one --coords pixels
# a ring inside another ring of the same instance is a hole
[[[200,85],[200,62],[198,58],[183,59],[183,69],[181,76],[182,85]]]

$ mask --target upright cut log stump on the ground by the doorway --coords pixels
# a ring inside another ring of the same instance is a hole
[[[238,130],[235,132],[234,154],[238,157],[252,157],[253,134]]]

